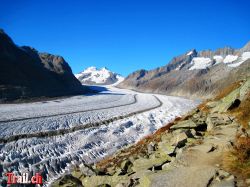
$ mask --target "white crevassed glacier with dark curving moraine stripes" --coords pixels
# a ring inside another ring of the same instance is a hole
[[[135,94],[137,101],[133,102]],[[197,102],[183,98],[155,96],[163,103],[161,107],[108,125],[86,128],[63,136],[20,139],[0,144],[0,180],[3,180],[7,171],[40,172],[48,182],[46,185],[49,185],[51,181],[68,172],[73,165],[101,160],[118,149],[155,132],[197,105]],[[119,106],[121,104],[124,106]],[[1,120],[29,117],[21,121],[0,122],[0,137],[70,128],[89,121],[101,121],[156,106],[159,106],[159,101],[152,94],[114,88],[97,95],[76,96],[46,103],[0,105]],[[93,110],[70,113],[82,109]],[[60,113],[68,114],[60,115]],[[58,116],[32,119],[32,116],[47,114],[58,114]]]

